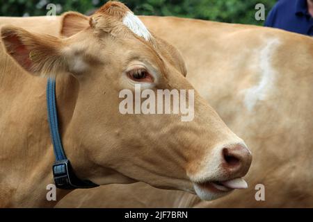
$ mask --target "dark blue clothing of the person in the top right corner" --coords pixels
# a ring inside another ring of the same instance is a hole
[[[269,12],[264,26],[313,35],[313,18],[306,0],[280,0]]]

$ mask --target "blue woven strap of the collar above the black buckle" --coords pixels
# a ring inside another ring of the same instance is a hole
[[[56,161],[66,160],[60,133],[58,130],[58,114],[56,109],[56,80],[48,78],[47,81],[47,111],[50,128],[51,141],[54,146]]]

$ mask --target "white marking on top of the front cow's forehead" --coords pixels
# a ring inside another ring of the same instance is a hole
[[[123,19],[123,24],[127,26],[133,33],[143,37],[146,41],[149,41],[151,38],[151,33],[147,30],[147,27],[141,22],[133,12],[127,12]]]

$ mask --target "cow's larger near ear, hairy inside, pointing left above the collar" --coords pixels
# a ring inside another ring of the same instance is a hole
[[[4,26],[1,39],[7,53],[31,74],[48,76],[67,69],[62,55],[63,40],[57,37]]]

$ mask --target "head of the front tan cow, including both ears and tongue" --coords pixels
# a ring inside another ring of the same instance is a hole
[[[7,26],[1,37],[30,74],[76,79],[74,108],[63,107],[72,109],[63,143],[79,178],[99,185],[143,181],[207,200],[246,187],[241,177],[250,167],[250,151],[197,92],[187,93],[193,87],[177,50],[150,33],[125,5],[111,1],[92,17],[67,13],[61,33],[66,37]],[[186,99],[192,117],[121,112],[121,92],[134,93],[130,101],[136,106],[138,87],[149,89],[149,96],[137,98],[141,104],[160,89],[185,90],[176,104],[170,99],[170,108]]]

